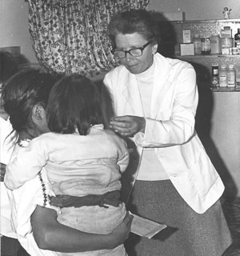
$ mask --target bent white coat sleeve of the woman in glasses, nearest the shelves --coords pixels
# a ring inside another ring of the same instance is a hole
[[[187,142],[194,134],[195,114],[198,106],[196,74],[190,65],[181,70],[172,109],[160,114],[158,120],[146,118],[145,133],[135,135],[138,146],[164,147]]]

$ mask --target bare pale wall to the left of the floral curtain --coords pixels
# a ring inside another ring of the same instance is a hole
[[[28,30],[28,3],[24,0],[0,0],[0,47],[20,46],[28,62],[38,62]]]

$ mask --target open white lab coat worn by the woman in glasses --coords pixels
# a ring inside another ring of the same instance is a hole
[[[202,214],[220,198],[224,185],[194,130],[198,89],[194,68],[187,62],[154,55],[154,84],[150,116],[145,133],[133,140],[155,149],[166,174],[178,193],[197,213]],[[125,66],[106,74],[116,116],[144,117],[138,83]]]

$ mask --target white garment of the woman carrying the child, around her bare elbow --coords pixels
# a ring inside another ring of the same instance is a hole
[[[18,241],[30,255],[57,256],[54,251],[39,249],[32,233],[30,217],[37,205],[52,208],[59,214],[59,209],[50,206],[49,201],[45,199],[44,194],[52,194],[52,192],[45,180],[45,174],[42,174],[42,179],[43,182],[39,176],[37,176],[29,182],[25,182],[24,185],[17,190],[9,190],[9,193],[12,194],[11,221]],[[43,184],[46,190],[43,190]]]

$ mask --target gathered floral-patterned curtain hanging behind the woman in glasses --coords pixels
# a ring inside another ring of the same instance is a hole
[[[94,76],[115,66],[106,29],[119,10],[149,0],[29,0],[29,27],[38,62],[64,74]]]

